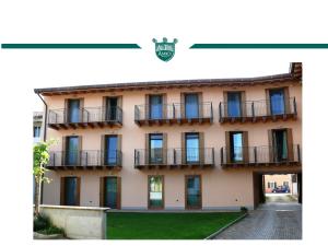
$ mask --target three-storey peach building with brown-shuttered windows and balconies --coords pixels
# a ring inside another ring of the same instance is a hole
[[[302,63],[259,78],[36,89],[52,148],[43,202],[122,210],[256,208],[297,174]]]

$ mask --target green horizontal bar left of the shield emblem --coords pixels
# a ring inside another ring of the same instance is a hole
[[[1,44],[2,49],[140,49],[137,44]]]

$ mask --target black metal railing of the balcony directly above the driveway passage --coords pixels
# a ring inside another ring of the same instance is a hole
[[[221,148],[222,166],[301,164],[301,147],[294,144],[283,153],[273,147]]]

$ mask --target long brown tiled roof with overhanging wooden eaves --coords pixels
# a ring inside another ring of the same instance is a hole
[[[171,87],[203,87],[203,86],[243,86],[254,84],[266,84],[276,82],[302,82],[302,62],[292,62],[289,73],[281,73],[256,78],[235,78],[235,79],[202,79],[202,80],[173,80],[173,81],[151,81],[151,82],[129,82],[110,84],[90,84],[65,87],[35,89],[34,92],[44,96],[78,94],[91,92],[114,92],[150,89],[171,89]]]

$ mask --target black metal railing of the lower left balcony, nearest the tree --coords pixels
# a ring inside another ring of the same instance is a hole
[[[52,151],[47,165],[50,169],[68,168],[118,168],[121,167],[121,151]]]

